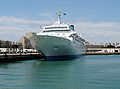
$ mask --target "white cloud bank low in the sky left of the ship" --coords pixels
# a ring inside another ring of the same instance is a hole
[[[40,25],[49,24],[49,21],[22,19],[16,17],[0,17],[1,40],[19,40],[27,32],[40,31]]]

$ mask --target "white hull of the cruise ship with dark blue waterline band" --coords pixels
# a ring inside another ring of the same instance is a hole
[[[32,38],[33,39],[33,38]],[[36,35],[35,48],[44,54],[46,60],[67,60],[80,57],[85,53],[85,45],[63,37]]]

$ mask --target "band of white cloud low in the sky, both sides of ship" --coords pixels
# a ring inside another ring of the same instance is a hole
[[[50,21],[23,19],[16,17],[0,17],[1,40],[19,40],[27,32],[41,31],[40,25],[50,24]],[[119,22],[73,22],[75,28],[88,42],[120,42]]]

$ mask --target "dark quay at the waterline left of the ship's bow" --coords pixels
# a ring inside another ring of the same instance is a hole
[[[13,54],[6,53],[6,54],[0,54],[0,63],[42,59],[42,58],[44,57],[41,53],[13,53]]]

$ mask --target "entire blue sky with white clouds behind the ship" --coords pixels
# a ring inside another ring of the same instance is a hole
[[[90,43],[120,43],[120,0],[0,0],[0,40],[19,41],[57,20],[75,25]]]

